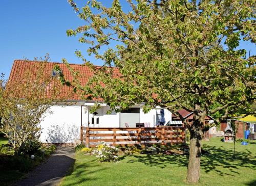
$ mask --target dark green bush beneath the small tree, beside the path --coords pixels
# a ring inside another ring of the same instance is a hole
[[[42,147],[42,143],[36,139],[28,139],[18,149],[18,154],[24,153],[28,155],[35,154]]]

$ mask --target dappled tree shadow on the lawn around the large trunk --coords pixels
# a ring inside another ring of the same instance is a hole
[[[220,176],[236,176],[240,167],[256,169],[256,156],[249,150],[236,152],[233,158],[232,150],[225,147],[204,145],[207,154],[201,157],[201,170],[206,173],[215,172]],[[151,167],[187,167],[188,155],[133,155],[128,163],[141,162]]]

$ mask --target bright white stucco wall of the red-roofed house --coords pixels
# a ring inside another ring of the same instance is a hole
[[[82,113],[81,113],[81,105]],[[51,114],[47,113],[40,123],[42,133],[40,140],[43,143],[74,143],[80,139],[80,125],[82,114],[82,126],[88,126],[88,121],[92,122],[92,117],[99,117],[99,124],[90,124],[90,127],[120,127],[120,113],[112,112],[106,114],[109,107],[102,106],[97,112],[97,116],[89,113],[90,107],[85,107],[84,103],[73,105],[55,105],[50,108]],[[150,127],[156,124],[156,115],[160,110],[151,110],[147,114],[140,109],[140,123],[150,123]],[[172,114],[164,110],[165,121],[172,120]],[[88,120],[89,117],[89,120]],[[96,120],[95,120],[96,121]]]

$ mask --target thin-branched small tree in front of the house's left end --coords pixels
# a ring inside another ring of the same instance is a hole
[[[38,60],[38,59],[37,59]],[[31,63],[31,62],[30,62]],[[31,63],[29,69],[16,74],[0,87],[0,131],[6,135],[15,150],[28,139],[38,139],[40,121],[59,97],[60,83],[46,68],[47,61]]]

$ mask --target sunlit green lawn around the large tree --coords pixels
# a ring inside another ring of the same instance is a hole
[[[220,138],[203,142],[209,152],[201,158],[201,179],[193,185],[256,185],[256,142],[232,143]],[[187,155],[122,155],[119,163],[98,163],[94,156],[76,152],[73,171],[61,185],[188,185]]]

